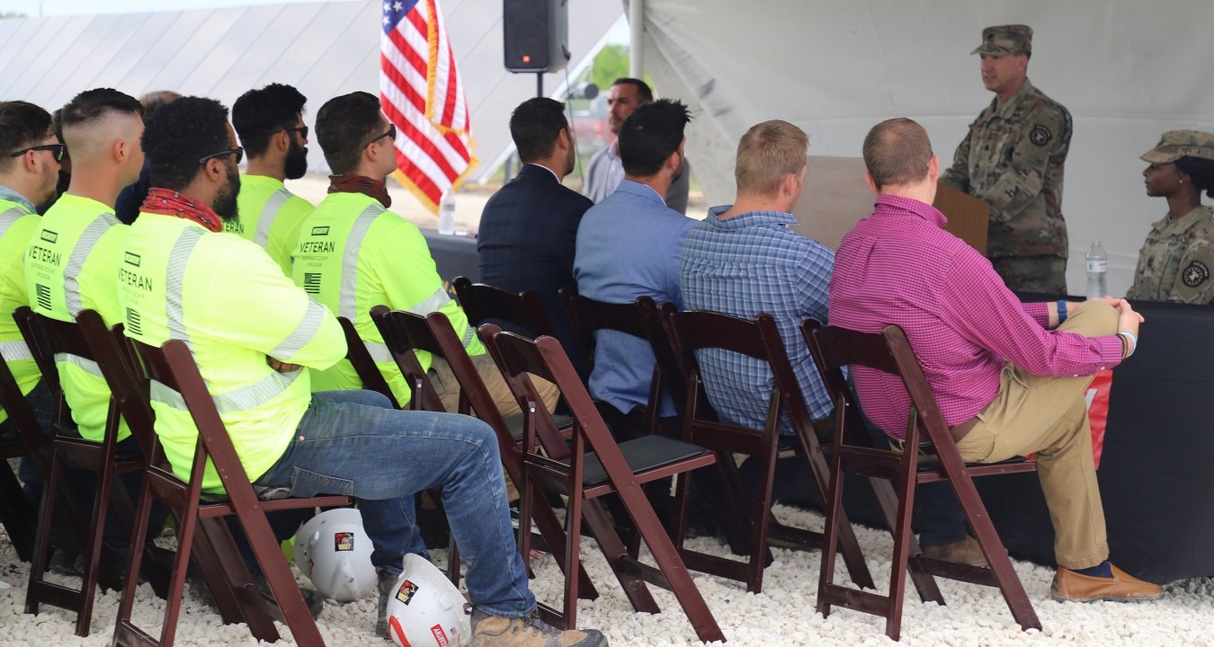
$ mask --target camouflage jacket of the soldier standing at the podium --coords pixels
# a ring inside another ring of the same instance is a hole
[[[1071,113],[1025,79],[970,124],[941,181],[991,205],[987,256],[1067,257],[1062,164]]]

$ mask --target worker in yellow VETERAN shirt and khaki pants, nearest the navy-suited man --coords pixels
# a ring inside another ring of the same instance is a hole
[[[397,134],[380,114],[379,100],[367,92],[329,100],[316,115],[316,131],[324,159],[336,175],[331,176],[329,195],[300,228],[291,267],[295,284],[353,322],[402,405],[409,402],[409,385],[370,317],[370,310],[380,305],[421,316],[436,311],[446,314],[498,409],[504,415],[517,414],[518,404],[501,371],[469,325],[464,310],[443,288],[425,237],[413,223],[387,210],[392,200],[384,182],[396,170]],[[418,362],[431,371],[443,405],[454,412],[459,385],[447,362],[425,351],[418,351]],[[314,374],[313,381],[317,390],[363,387],[345,359]],[[556,387],[538,378],[532,381],[551,408]]]

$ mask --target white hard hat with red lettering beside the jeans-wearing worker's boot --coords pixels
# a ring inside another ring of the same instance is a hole
[[[464,647],[472,620],[464,595],[430,560],[404,556],[404,572],[387,601],[387,631],[399,647]]]

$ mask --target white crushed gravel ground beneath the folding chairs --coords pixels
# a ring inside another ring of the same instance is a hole
[[[821,528],[821,515],[793,509],[777,509],[782,521]],[[891,540],[885,532],[857,528],[868,566],[878,580],[887,578]],[[715,539],[688,540],[688,547],[726,555]],[[582,601],[578,624],[599,628],[620,646],[697,645],[696,635],[683,617],[674,595],[653,588],[663,612],[656,615],[631,611],[618,581],[592,541],[583,543],[582,555],[600,597]],[[435,557],[443,563],[442,554]],[[537,579],[532,586],[541,600],[555,601],[560,591],[560,571],[551,557],[535,562]],[[902,622],[902,645],[907,646],[1002,646],[1002,645],[1079,645],[1112,646],[1201,646],[1214,645],[1214,580],[1195,579],[1169,585],[1162,600],[1144,603],[1096,602],[1059,603],[1049,598],[1053,571],[1016,562],[1016,572],[1040,617],[1043,630],[1021,631],[1012,622],[1002,596],[994,589],[940,580],[948,606],[921,603],[908,586]],[[815,613],[819,568],[818,552],[776,550],[776,563],[767,568],[764,592],[749,595],[734,581],[693,574],[716,622],[733,646],[891,646],[884,635],[884,622],[874,615],[835,609],[823,620]],[[92,635],[73,635],[70,617],[51,607],[39,615],[22,613],[28,564],[16,560],[7,541],[0,540],[0,580],[12,589],[0,589],[0,643],[11,646],[103,646],[113,635],[119,595],[98,594],[93,608]],[[887,580],[886,580],[887,581]],[[879,581],[879,586],[884,585]],[[151,588],[140,589],[136,620],[159,626],[164,601]],[[319,626],[330,646],[384,647],[371,631],[375,600],[348,605],[327,603]],[[293,643],[289,631],[283,628]],[[177,645],[238,646],[255,640],[243,625],[221,624],[214,612],[194,601],[188,591],[183,606]]]

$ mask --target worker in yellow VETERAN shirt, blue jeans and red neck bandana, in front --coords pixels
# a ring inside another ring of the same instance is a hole
[[[143,148],[152,191],[131,226],[119,269],[126,334],[193,352],[236,453],[255,486],[294,496],[358,500],[374,545],[387,637],[387,600],[407,552],[426,556],[413,496],[441,488],[467,564],[472,645],[601,647],[597,631],[545,625],[515,545],[497,436],[466,415],[392,409],[370,391],[311,392],[304,368],[346,354],[328,308],[308,297],[256,244],[222,233],[236,217],[242,149],[219,102],[182,97],[149,120]],[[365,144],[370,146],[368,138]],[[157,435],[188,477],[198,429],[180,393],[152,385]],[[221,488],[209,473],[203,488]]]

